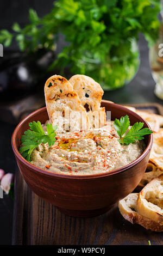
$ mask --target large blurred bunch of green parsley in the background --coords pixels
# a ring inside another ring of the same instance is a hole
[[[22,51],[55,48],[62,33],[68,42],[50,69],[68,66],[72,74],[85,74],[102,86],[123,86],[135,74],[139,55],[133,42],[143,33],[151,44],[158,37],[159,0],[60,0],[43,18],[29,10],[29,24],[3,29],[0,43],[16,39]]]

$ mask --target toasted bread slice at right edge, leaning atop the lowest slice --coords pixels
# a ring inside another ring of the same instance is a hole
[[[137,198],[139,214],[163,225],[163,174],[149,182]]]

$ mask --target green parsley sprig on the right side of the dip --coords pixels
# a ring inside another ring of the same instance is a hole
[[[120,136],[120,139],[118,139],[118,142],[121,144],[130,144],[134,141],[137,141],[137,139],[140,141],[143,139],[145,135],[153,133],[153,131],[149,130],[148,128],[143,128],[144,123],[137,122],[133,126],[131,126],[130,130],[126,133],[128,127],[130,126],[130,120],[128,115],[125,117],[121,117],[119,119],[115,119],[114,121],[114,127]],[[126,133],[125,136],[124,133]],[[123,137],[122,137],[123,136]]]

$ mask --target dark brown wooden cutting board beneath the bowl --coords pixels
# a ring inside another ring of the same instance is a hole
[[[157,103],[132,106],[163,115]],[[151,245],[163,245],[163,233],[124,220],[117,204],[93,218],[62,214],[36,196],[16,170],[13,245],[148,245],[148,240]]]

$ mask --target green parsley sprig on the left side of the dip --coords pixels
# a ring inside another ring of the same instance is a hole
[[[57,126],[52,126],[52,124],[47,124],[47,135],[42,129],[40,121],[33,121],[29,123],[30,130],[24,132],[24,135],[21,137],[22,146],[19,149],[21,155],[28,162],[30,161],[30,155],[32,151],[37,148],[41,143],[48,143],[49,146],[52,146],[55,142],[55,130]]]

